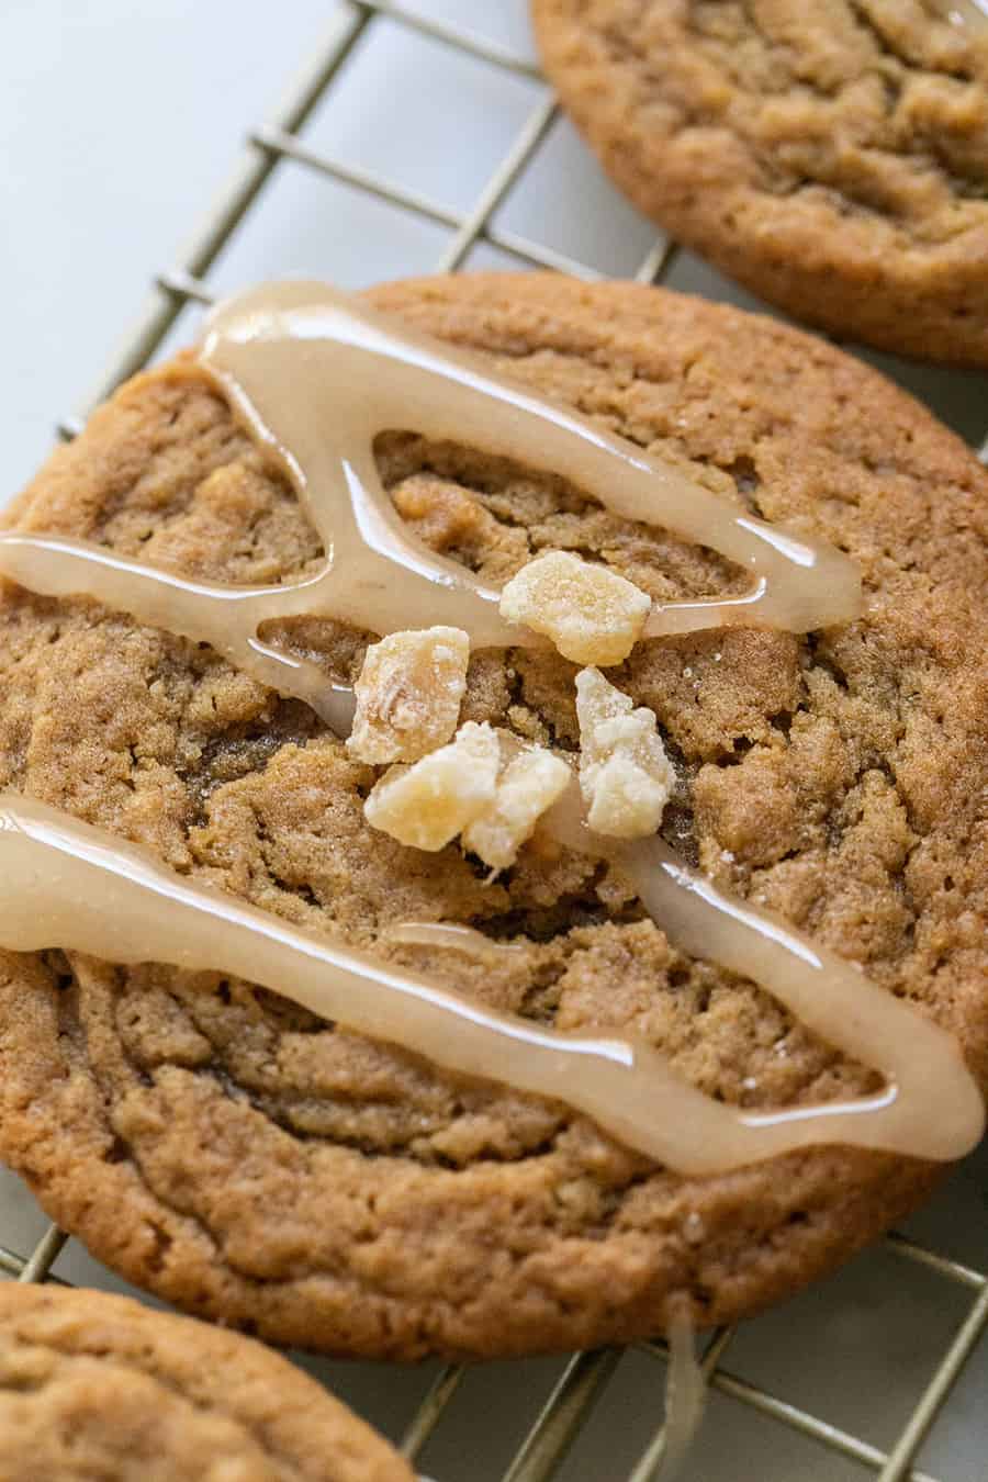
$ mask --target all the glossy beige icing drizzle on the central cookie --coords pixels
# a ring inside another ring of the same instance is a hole
[[[200,363],[298,491],[324,544],[323,571],[283,587],[194,582],[81,541],[9,531],[0,534],[0,574],[46,596],[89,594],[207,642],[262,683],[308,701],[339,735],[353,717],[350,691],[332,686],[318,665],[265,645],[261,624],[324,615],[387,633],[446,622],[465,628],[475,646],[533,642],[504,622],[496,590],[409,535],[373,461],[373,437],[385,428],[551,468],[616,513],[661,523],[751,572],[752,588],[741,597],[653,606],[652,636],[723,624],[803,631],[858,615],[858,572],[825,542],[739,514],[678,470],[492,375],[483,360],[321,285],[259,289],[221,307]],[[718,1104],[644,1042],[547,1030],[484,1009],[12,794],[0,796],[0,946],[236,974],[438,1066],[563,1100],[686,1174],[822,1141],[948,1159],[978,1140],[978,1088],[951,1036],[918,1011],[784,922],[724,895],[662,840],[607,848],[582,823],[576,784],[545,827],[564,846],[618,860],[672,940],[758,981],[830,1043],[880,1069],[886,1088],[784,1112]],[[480,953],[477,937],[453,923],[391,931],[393,941]],[[511,951],[480,941],[484,951]]]

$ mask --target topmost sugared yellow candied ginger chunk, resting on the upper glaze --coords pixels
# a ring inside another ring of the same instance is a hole
[[[544,633],[575,664],[621,664],[650,606],[650,597],[618,572],[572,551],[536,556],[501,593],[508,622]]]

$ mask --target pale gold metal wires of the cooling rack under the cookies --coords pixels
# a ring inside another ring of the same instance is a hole
[[[381,178],[345,160],[316,151],[305,142],[301,129],[326,96],[356,43],[381,18],[387,18],[421,37],[430,37],[453,47],[487,67],[527,79],[539,76],[524,58],[514,56],[505,49],[455,27],[428,19],[397,0],[341,0],[327,34],[316,49],[311,64],[290,87],[281,108],[249,135],[244,153],[218,194],[209,218],[185,250],[179,253],[176,262],[154,277],[151,295],[138,322],[83,405],[83,415],[120,381],[147,365],[188,304],[209,304],[212,301],[210,289],[204,280],[206,274],[219,252],[237,233],[268,178],[286,160],[330,176],[419,219],[447,228],[452,236],[440,261],[435,262],[437,271],[456,271],[477,243],[487,243],[513,253],[521,264],[555,268],[585,279],[601,276],[590,264],[570,258],[527,236],[504,230],[495,221],[498,206],[535,159],[555,120],[557,104],[548,90],[539,93],[501,163],[480,190],[473,206],[462,213],[425,199],[406,188],[400,181]],[[668,274],[675,253],[675,243],[659,236],[640,262],[635,277],[646,283],[662,280]],[[73,437],[80,427],[81,418],[71,416],[59,424],[58,431],[62,437]],[[985,456],[987,451],[988,439],[981,448],[981,455]],[[65,1242],[67,1236],[50,1226],[34,1251],[27,1255],[0,1245],[0,1270],[21,1282],[58,1280],[59,1277],[52,1273],[52,1267]],[[988,1329],[988,1273],[963,1266],[901,1235],[889,1236],[886,1248],[905,1263],[933,1272],[954,1289],[970,1294],[966,1316],[889,1451],[883,1451],[861,1436],[843,1430],[812,1411],[790,1403],[732,1372],[723,1360],[729,1353],[733,1329],[718,1331],[707,1341],[702,1366],[714,1390],[742,1402],[778,1426],[798,1432],[822,1448],[859,1463],[868,1473],[877,1476],[878,1482],[902,1482],[902,1479],[938,1482],[929,1473],[914,1470],[912,1461],[979,1338]],[[668,1360],[664,1343],[647,1343],[640,1347],[641,1352],[661,1363]],[[569,1360],[504,1473],[502,1482],[548,1482],[555,1476],[576,1443],[594,1403],[615,1375],[619,1359],[621,1355],[616,1350],[604,1349],[578,1353]],[[464,1372],[462,1368],[450,1365],[434,1378],[401,1442],[401,1449],[410,1460],[421,1455],[435,1429],[455,1406]],[[664,1448],[664,1429],[659,1427],[634,1464],[627,1482],[650,1482],[656,1478]]]

